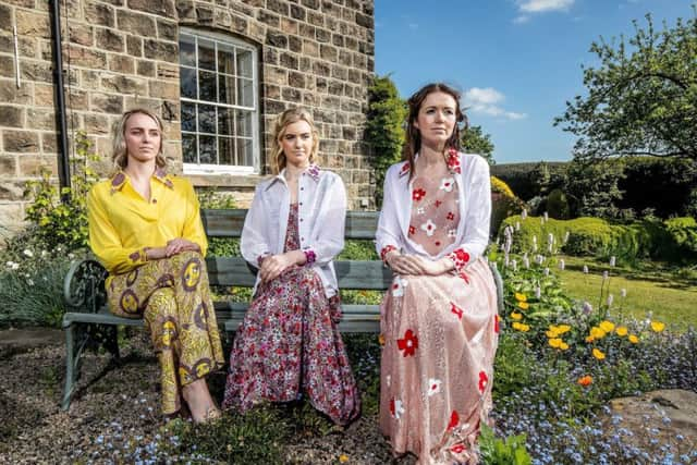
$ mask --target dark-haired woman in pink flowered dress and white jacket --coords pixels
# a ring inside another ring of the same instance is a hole
[[[412,452],[419,464],[477,463],[491,409],[489,166],[458,151],[458,100],[444,84],[409,98],[405,161],[388,170],[376,234],[394,272],[381,306],[380,429],[395,455]]]

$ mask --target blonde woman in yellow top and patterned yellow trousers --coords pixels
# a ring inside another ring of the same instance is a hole
[[[217,418],[205,377],[223,355],[196,194],[164,172],[162,122],[148,110],[123,114],[112,160],[114,173],[87,198],[89,245],[109,271],[109,308],[144,317],[160,362],[162,413],[179,412],[183,396],[194,421]]]

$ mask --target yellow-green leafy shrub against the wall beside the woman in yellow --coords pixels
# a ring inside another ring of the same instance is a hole
[[[34,234],[48,247],[58,245],[73,250],[87,245],[87,193],[99,180],[89,167],[99,159],[91,154],[87,136],[80,132],[75,137],[76,156],[71,160],[73,174],[71,187],[59,187],[51,181],[51,173],[42,170],[37,181],[26,184],[25,195],[34,201],[26,209],[26,220],[35,227]],[[61,197],[64,201],[61,201]]]

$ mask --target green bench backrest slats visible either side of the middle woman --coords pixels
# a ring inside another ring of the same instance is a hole
[[[240,237],[247,210],[201,210],[201,219],[209,237]],[[344,237],[375,240],[378,225],[377,211],[347,211]],[[213,285],[253,286],[255,276],[242,257],[209,257],[210,283]],[[334,261],[339,287],[382,291],[390,286],[392,272],[376,260]]]

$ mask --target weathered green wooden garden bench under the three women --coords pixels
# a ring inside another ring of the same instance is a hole
[[[203,210],[201,218],[208,237],[240,237],[246,210]],[[375,240],[378,212],[348,211],[346,240]],[[210,285],[253,287],[255,270],[242,257],[206,258]],[[392,281],[391,271],[379,260],[334,261],[339,287],[342,290],[384,291]],[[502,309],[502,283],[496,270],[499,309]],[[115,359],[119,358],[117,329],[119,326],[142,327],[143,319],[130,319],[111,315],[107,307],[105,279],[107,271],[99,262],[86,259],[72,264],[64,280],[64,296],[69,311],[63,316],[65,330],[66,372],[62,408],[68,409],[80,378],[81,356],[88,347],[102,345]],[[248,307],[246,303],[216,302],[218,325],[224,331],[234,332]],[[380,331],[378,305],[343,304],[343,317],[339,323],[342,332]]]

